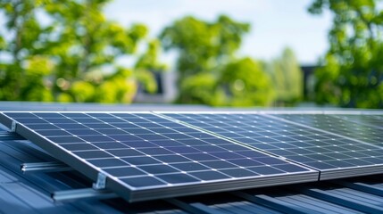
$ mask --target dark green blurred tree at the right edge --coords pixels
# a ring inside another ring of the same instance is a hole
[[[313,14],[333,14],[329,51],[315,72],[318,103],[383,108],[383,10],[378,4],[315,0],[310,6]]]

